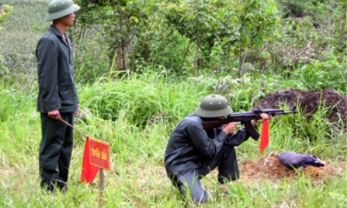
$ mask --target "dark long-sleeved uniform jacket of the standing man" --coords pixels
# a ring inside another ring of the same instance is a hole
[[[69,37],[67,41],[55,26],[51,25],[36,47],[38,63],[39,95],[37,111],[52,110],[74,112],[78,110],[78,96],[72,71],[73,53]]]

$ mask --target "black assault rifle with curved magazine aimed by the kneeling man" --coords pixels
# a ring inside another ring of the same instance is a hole
[[[251,120],[259,120],[262,119],[262,116],[260,114],[266,113],[269,116],[275,116],[278,114],[295,114],[297,113],[296,110],[294,111],[287,111],[281,109],[264,109],[264,110],[252,110],[250,112],[240,112],[240,113],[232,113],[228,116],[226,116],[225,119],[221,120],[212,120],[212,121],[203,121],[203,129],[209,130],[212,128],[216,128],[217,126],[230,123],[230,122],[241,122],[245,125],[246,130],[251,137],[257,141],[260,137],[260,134],[255,129],[254,125],[252,124]]]

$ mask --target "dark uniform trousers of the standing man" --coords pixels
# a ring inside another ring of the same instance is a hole
[[[60,113],[63,120],[74,125],[74,112]],[[74,130],[48,114],[41,113],[42,140],[39,150],[41,187],[53,190],[66,187],[69,176]]]

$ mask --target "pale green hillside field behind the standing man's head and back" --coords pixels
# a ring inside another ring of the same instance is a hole
[[[49,28],[46,17],[47,1],[4,1],[12,8],[12,14],[0,31],[0,64],[8,67],[9,73],[3,78],[12,83],[26,83],[24,87],[35,85],[35,46]],[[2,73],[0,73],[2,74]]]

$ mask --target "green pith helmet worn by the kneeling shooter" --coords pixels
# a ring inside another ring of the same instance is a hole
[[[203,118],[216,118],[228,116],[232,113],[232,110],[225,98],[217,94],[211,94],[203,98],[203,101],[201,101],[200,106],[196,108],[194,113]]]

